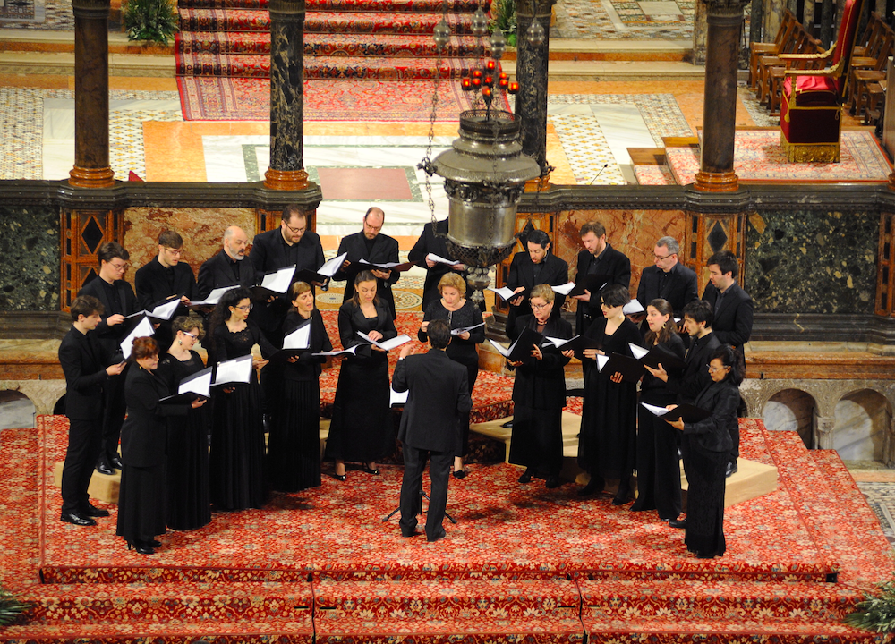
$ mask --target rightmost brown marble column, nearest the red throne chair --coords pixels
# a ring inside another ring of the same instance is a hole
[[[699,0],[702,2],[702,0]],[[703,145],[695,189],[737,191],[733,172],[737,125],[737,63],[745,0],[708,0]]]

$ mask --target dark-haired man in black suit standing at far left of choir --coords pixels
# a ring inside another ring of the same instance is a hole
[[[105,366],[108,356],[93,331],[102,321],[103,305],[90,295],[72,301],[72,328],[59,344],[59,364],[65,374],[65,415],[68,449],[62,470],[60,520],[74,525],[96,525],[94,517],[108,516],[90,504],[87,488],[97,462],[103,430],[103,386],[118,376],[124,362]]]

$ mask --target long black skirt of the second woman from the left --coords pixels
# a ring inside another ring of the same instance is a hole
[[[196,530],[211,521],[210,411],[205,405],[185,419],[167,421],[167,525],[172,530]]]

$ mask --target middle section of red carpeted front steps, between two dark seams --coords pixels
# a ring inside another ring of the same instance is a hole
[[[580,597],[567,580],[320,581],[317,641],[424,637],[580,642]]]

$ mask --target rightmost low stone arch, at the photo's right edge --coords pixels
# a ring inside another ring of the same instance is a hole
[[[831,447],[844,461],[895,463],[892,405],[869,387],[852,388],[840,396],[833,411]]]

